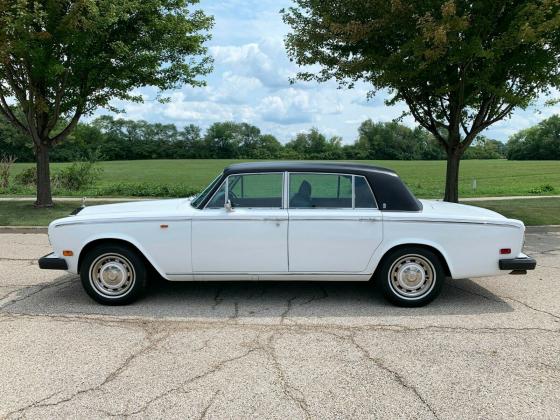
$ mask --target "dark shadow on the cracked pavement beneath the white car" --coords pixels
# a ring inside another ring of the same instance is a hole
[[[513,308],[470,279],[448,279],[423,308],[398,308],[365,282],[168,282],[155,280],[146,296],[127,306],[103,306],[83,291],[77,276],[23,289],[0,311],[24,314],[99,314],[146,318],[342,318],[403,315],[478,315]]]

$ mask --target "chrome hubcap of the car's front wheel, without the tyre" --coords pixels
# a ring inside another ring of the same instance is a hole
[[[134,284],[136,274],[130,261],[118,254],[104,254],[93,262],[89,281],[93,288],[106,297],[127,294]]]

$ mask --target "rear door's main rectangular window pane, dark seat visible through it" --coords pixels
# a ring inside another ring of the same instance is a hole
[[[291,208],[352,208],[352,177],[337,174],[290,174]]]

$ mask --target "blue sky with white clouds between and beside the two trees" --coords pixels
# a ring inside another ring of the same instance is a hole
[[[214,71],[206,78],[207,86],[170,92],[167,104],[154,101],[153,90],[142,89],[144,104],[116,104],[125,110],[121,117],[203,128],[216,121],[248,122],[282,142],[317,127],[352,143],[363,120],[390,121],[400,116],[404,104],[387,107],[383,92],[368,100],[367,85],[351,90],[337,89],[334,82],[290,85],[297,67],[286,56],[283,39],[289,28],[279,13],[290,4],[286,0],[201,0],[199,7],[215,17],[208,43]],[[560,112],[560,106],[542,104],[539,101],[535,107],[515,112],[484,134],[506,141],[516,131]],[[403,122],[414,125],[411,118]]]

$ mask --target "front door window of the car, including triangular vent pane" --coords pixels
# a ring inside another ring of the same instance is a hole
[[[231,175],[208,202],[208,208],[221,208],[227,199],[239,208],[282,208],[280,173]]]

